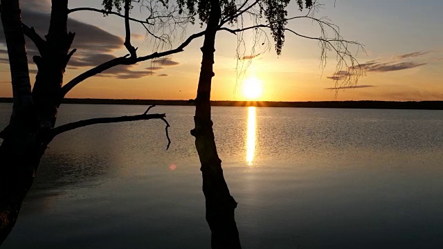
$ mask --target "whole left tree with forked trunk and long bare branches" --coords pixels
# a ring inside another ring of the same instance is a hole
[[[166,3],[159,3],[157,8],[151,9],[148,19],[134,19],[129,16],[132,2],[131,0],[124,0],[124,14],[122,15],[119,11],[113,12],[112,8],[119,6],[120,3],[123,3],[123,0],[105,0],[103,3],[104,10],[93,8],[69,10],[68,0],[52,0],[48,35],[43,38],[35,32],[34,28],[21,23],[19,0],[1,0],[1,19],[10,58],[14,104],[10,123],[0,133],[0,137],[3,138],[0,145],[0,244],[15,225],[21,203],[33,183],[39,161],[48,144],[58,134],[91,124],[160,119],[166,124],[169,147],[169,124],[165,120],[165,114],[147,114],[150,108],[145,113],[137,116],[93,118],[55,127],[57,110],[64,96],[83,80],[117,65],[136,64],[179,53],[190,44],[192,39],[203,35],[203,33],[192,35],[177,48],[159,50],[149,55],[138,56],[137,49],[131,44],[130,21],[142,25],[150,24],[151,26],[155,26],[156,22],[163,25],[164,21],[186,25],[190,21],[190,17],[179,15],[177,10],[174,10],[174,8],[171,10]],[[165,7],[163,12],[160,10],[162,6]],[[70,82],[63,84],[66,65],[76,51],[76,49],[71,50],[75,33],[67,31],[66,23],[69,13],[81,10],[91,10],[101,12],[104,15],[123,17],[126,31],[125,47],[129,54],[116,57],[91,68]],[[159,15],[160,12],[161,15]],[[160,29],[159,31],[163,30]],[[168,37],[155,35],[148,28],[147,32],[155,39],[168,42]],[[39,51],[39,56],[33,57],[38,72],[32,91],[24,35],[32,40]]]

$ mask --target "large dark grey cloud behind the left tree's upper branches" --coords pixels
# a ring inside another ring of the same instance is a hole
[[[22,4],[22,18],[24,24],[32,26],[35,31],[44,37],[48,32],[49,21],[51,19],[51,1],[50,0],[28,0]],[[113,35],[98,26],[86,24],[75,19],[68,19],[68,30],[75,33],[75,39],[71,48],[77,48],[67,68],[82,69],[98,66],[111,59],[116,58],[112,55],[114,50],[123,48],[123,37]],[[134,36],[136,37],[136,36]],[[0,43],[5,44],[3,27],[0,25]],[[38,55],[38,50],[28,38],[26,38],[28,61],[32,62],[32,56]],[[0,64],[8,64],[8,50],[0,49]],[[3,58],[2,58],[3,57]],[[134,65],[120,65],[109,68],[98,74],[99,77],[116,77],[117,79],[138,79],[147,75],[156,75],[163,66],[175,66],[179,62],[172,59],[162,59],[156,63],[156,66],[145,68],[146,70],[134,70]],[[36,73],[30,70],[30,73]]]

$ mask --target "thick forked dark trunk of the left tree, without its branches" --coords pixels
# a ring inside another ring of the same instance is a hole
[[[36,44],[41,56],[34,57],[38,73],[30,91],[26,44],[19,1],[1,0],[14,107],[10,124],[1,132],[0,146],[0,245],[12,230],[35,172],[51,137],[60,105],[60,89],[68,50],[74,34],[66,32],[68,0],[53,0],[46,41]]]

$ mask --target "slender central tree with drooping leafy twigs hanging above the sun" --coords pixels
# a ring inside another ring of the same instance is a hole
[[[323,66],[325,66],[327,52],[333,50],[338,59],[336,74],[342,73],[343,67],[347,69],[345,80],[341,84],[353,84],[361,76],[363,71],[348,50],[348,45],[356,45],[361,48],[362,46],[357,42],[343,39],[338,33],[338,27],[331,24],[328,19],[315,18],[313,13],[315,8],[319,6],[316,1],[297,0],[296,5],[300,10],[303,8],[309,10],[307,15],[300,17],[287,17],[290,0],[256,0],[253,3],[248,3],[247,0],[240,2],[235,0],[179,0],[178,3],[181,9],[186,8],[190,14],[198,13],[201,25],[206,24],[204,44],[201,47],[202,59],[197,98],[195,98],[195,129],[192,129],[191,134],[195,137],[195,147],[201,162],[203,192],[206,198],[206,220],[212,232],[211,246],[212,248],[241,248],[234,214],[237,202],[230,195],[224,179],[211,120],[210,92],[212,78],[215,76],[213,64],[217,31],[227,30],[233,34],[239,33],[240,39],[238,41],[242,43],[244,42],[242,39],[244,30],[255,30],[255,33],[260,33],[263,32],[262,29],[267,28],[271,31],[275,42],[275,51],[278,55],[282,53],[285,31],[307,39],[314,39],[320,43],[320,59]],[[239,19],[244,18],[244,15],[249,15],[254,20],[254,24],[242,26],[243,22],[240,22],[240,27],[235,30],[226,27],[226,24],[237,23]],[[315,21],[320,28],[320,37],[300,35],[287,28],[288,21],[295,19]],[[261,24],[262,21],[265,21],[266,24]],[[332,30],[334,37],[327,36],[327,28]],[[255,35],[255,37],[259,36]],[[237,56],[240,59],[238,48],[239,46],[237,46]]]

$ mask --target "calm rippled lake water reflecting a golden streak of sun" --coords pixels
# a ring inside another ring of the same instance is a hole
[[[64,105],[59,124],[145,107]],[[210,248],[192,107],[55,138],[3,248]],[[0,122],[9,104],[0,104]],[[443,248],[443,111],[213,108],[244,248]]]

